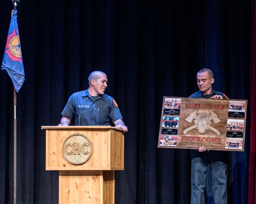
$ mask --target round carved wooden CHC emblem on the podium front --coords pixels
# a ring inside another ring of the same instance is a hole
[[[82,134],[73,134],[64,141],[62,152],[70,163],[81,165],[92,155],[92,142]]]

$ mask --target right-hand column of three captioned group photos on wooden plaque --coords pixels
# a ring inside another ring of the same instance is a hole
[[[246,101],[229,101],[225,149],[242,149]]]

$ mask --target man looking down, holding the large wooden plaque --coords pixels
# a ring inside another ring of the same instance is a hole
[[[190,98],[228,99],[225,94],[214,91],[214,76],[211,69],[204,68],[197,72],[199,91]],[[228,153],[225,151],[206,151],[205,147],[191,150],[191,203],[204,203],[206,181],[207,192],[213,192],[214,203],[226,204],[227,201],[227,167]],[[211,171],[211,172],[210,172]],[[208,176],[207,175],[211,175]],[[211,189],[209,189],[211,188]]]

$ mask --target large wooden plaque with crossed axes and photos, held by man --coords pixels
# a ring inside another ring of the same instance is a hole
[[[159,148],[244,151],[247,100],[163,98]]]

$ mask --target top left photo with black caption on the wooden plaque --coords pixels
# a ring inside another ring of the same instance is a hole
[[[181,99],[166,98],[164,101],[164,115],[179,115]]]

